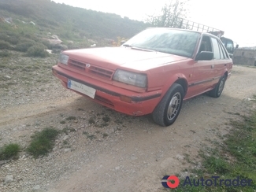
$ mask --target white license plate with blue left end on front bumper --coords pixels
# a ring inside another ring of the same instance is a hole
[[[90,98],[95,98],[96,90],[94,88],[83,85],[82,83],[78,83],[76,81],[69,79],[68,87],[69,87],[69,89],[76,90],[82,94],[86,94]]]

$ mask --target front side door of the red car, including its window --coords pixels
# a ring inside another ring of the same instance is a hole
[[[213,51],[209,35],[202,35],[202,41],[200,43],[198,53],[201,51]],[[189,84],[190,90],[187,93],[187,98],[201,94],[210,89],[214,76],[214,61],[195,61],[193,74],[191,74],[191,76],[192,80]]]

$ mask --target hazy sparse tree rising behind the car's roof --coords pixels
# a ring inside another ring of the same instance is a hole
[[[187,17],[186,4],[189,0],[169,0],[161,8],[158,16],[149,16],[147,22],[155,27],[183,28],[183,19]]]

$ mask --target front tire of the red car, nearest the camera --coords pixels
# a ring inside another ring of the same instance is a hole
[[[152,113],[154,122],[163,127],[173,124],[179,116],[183,98],[184,88],[178,83],[173,83]]]

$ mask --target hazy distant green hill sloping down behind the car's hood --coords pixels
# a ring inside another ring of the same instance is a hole
[[[0,9],[2,17],[32,20],[45,30],[58,31],[62,38],[69,38],[71,32],[107,39],[117,36],[129,38],[148,26],[116,14],[75,8],[49,0],[1,0]]]

